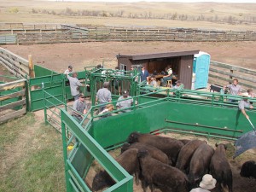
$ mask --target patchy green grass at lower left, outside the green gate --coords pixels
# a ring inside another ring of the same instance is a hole
[[[9,124],[14,125],[17,120]],[[34,131],[27,131],[27,125],[33,126]],[[21,154],[2,173],[0,192],[66,191],[61,134],[53,127],[44,125],[44,122],[35,122],[32,114],[20,120],[18,127],[19,130],[24,129],[23,133],[13,131],[10,125],[8,127],[6,137],[12,138],[12,145],[16,150],[20,146]],[[23,137],[26,139],[22,140]],[[7,141],[5,138],[5,143]],[[5,163],[8,163],[9,155],[11,154],[4,154]]]

